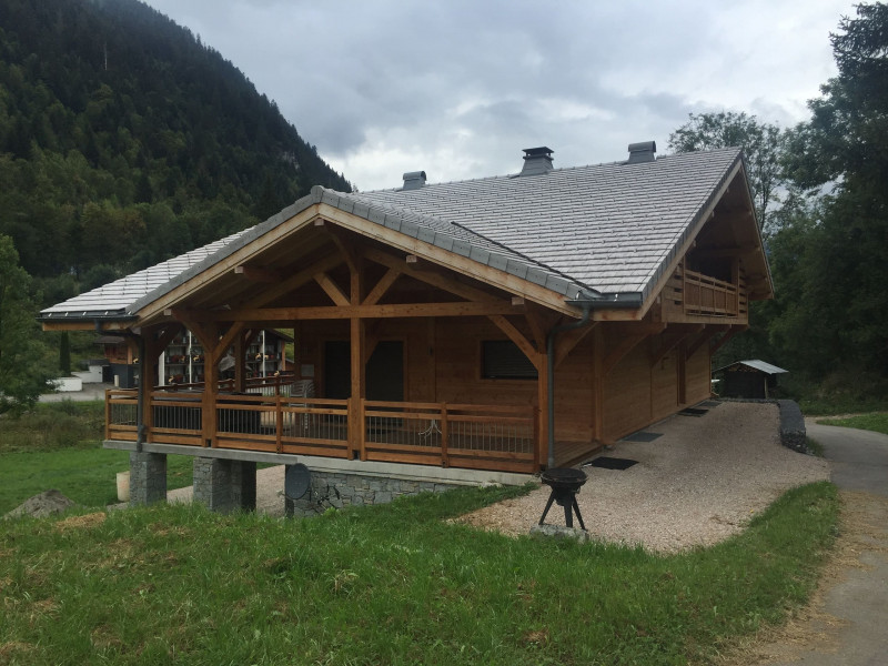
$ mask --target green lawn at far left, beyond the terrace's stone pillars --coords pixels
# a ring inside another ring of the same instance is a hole
[[[84,506],[117,502],[129,454],[101,448],[101,402],[47,403],[19,420],[0,418],[0,515],[54,488]],[[192,484],[192,460],[168,457],[168,487]],[[0,660],[2,663],[2,660]]]

